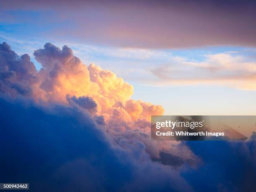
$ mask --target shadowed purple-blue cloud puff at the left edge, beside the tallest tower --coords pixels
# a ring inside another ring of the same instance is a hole
[[[0,91],[31,96],[37,82],[36,68],[28,54],[18,56],[8,44],[0,44]]]

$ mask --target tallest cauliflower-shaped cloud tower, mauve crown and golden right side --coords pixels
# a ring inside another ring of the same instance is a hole
[[[100,90],[90,81],[89,71],[71,49],[61,49],[47,43],[44,49],[34,52],[35,59],[42,65],[39,72],[40,88],[46,92],[49,100],[65,101],[66,95],[93,95]]]

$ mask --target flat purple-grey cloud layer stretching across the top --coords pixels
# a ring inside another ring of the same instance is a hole
[[[34,28],[42,36],[46,34],[41,29],[47,28],[51,34],[47,36],[53,40],[154,49],[256,45],[253,1],[139,0],[120,3],[112,0],[106,4],[90,0],[74,3],[10,0],[1,3],[3,21],[22,23],[26,20],[31,28],[36,26]]]

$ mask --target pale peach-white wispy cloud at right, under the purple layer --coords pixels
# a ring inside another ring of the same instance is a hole
[[[211,84],[256,90],[256,62],[251,56],[224,52],[205,55],[203,61],[176,60],[176,64],[153,67],[156,85]]]

